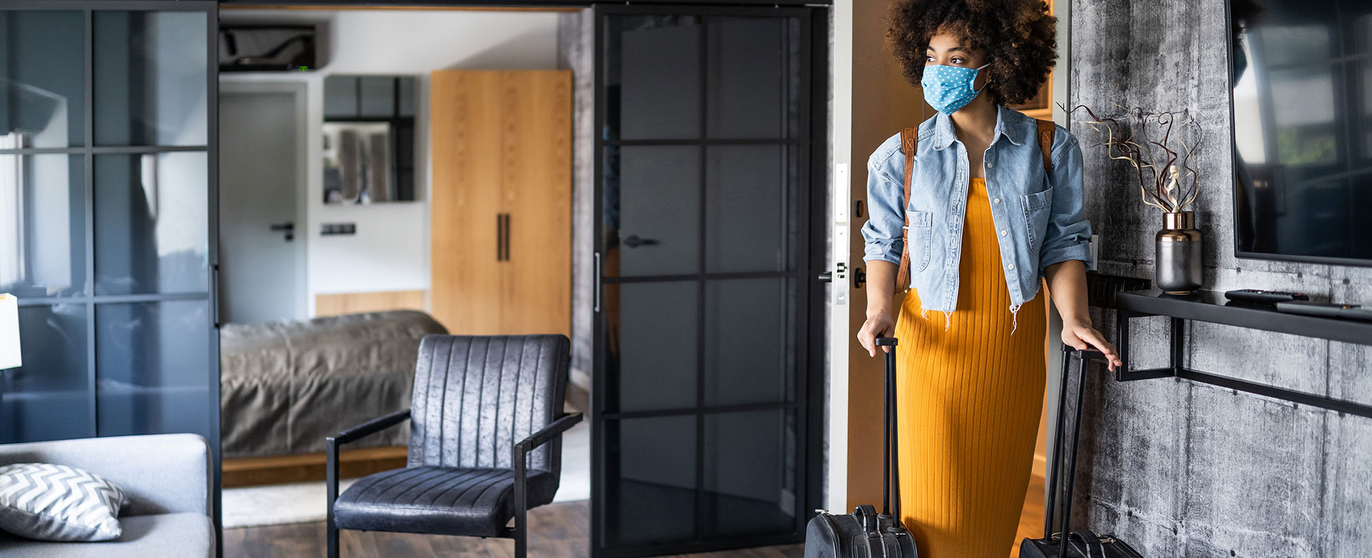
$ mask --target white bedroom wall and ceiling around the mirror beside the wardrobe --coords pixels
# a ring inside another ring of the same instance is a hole
[[[322,67],[309,73],[221,74],[221,81],[303,81],[310,133],[306,149],[307,299],[335,292],[427,291],[429,287],[428,73],[434,70],[545,70],[557,67],[557,14],[468,10],[222,10],[222,23],[322,23]],[[420,200],[325,206],[320,126],[324,77],[413,74],[416,191]],[[320,236],[325,222],[354,222],[357,234]]]

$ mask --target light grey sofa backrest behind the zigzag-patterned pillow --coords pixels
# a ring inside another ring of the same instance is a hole
[[[85,469],[122,488],[121,515],[214,509],[210,444],[200,435],[110,436],[0,446],[0,465],[58,463]]]

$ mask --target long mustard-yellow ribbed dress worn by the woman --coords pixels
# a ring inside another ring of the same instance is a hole
[[[910,291],[896,319],[901,514],[922,558],[1004,558],[1029,487],[1045,296],[1011,317],[997,243],[985,181],[973,178],[956,310],[922,317]]]

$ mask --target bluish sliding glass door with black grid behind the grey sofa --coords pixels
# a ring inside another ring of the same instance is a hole
[[[0,8],[0,441],[218,451],[214,1]],[[217,462],[217,459],[215,459]]]

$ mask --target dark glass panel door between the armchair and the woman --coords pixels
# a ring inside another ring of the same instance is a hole
[[[591,553],[799,542],[822,415],[807,381],[814,19],[595,11]]]

